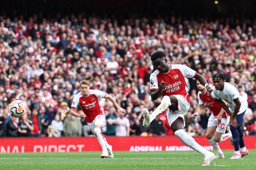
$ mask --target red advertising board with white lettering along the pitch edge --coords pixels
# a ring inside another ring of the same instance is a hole
[[[106,137],[114,151],[189,151],[176,136],[168,137]],[[207,150],[213,150],[206,137],[194,139]],[[245,136],[248,149],[256,149],[256,136]],[[222,149],[233,149],[230,141],[219,143]],[[14,152],[83,152],[101,151],[96,137],[0,138],[0,153]]]

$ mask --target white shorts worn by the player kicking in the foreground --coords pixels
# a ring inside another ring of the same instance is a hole
[[[184,113],[188,112],[189,108],[190,108],[190,104],[188,103],[188,101],[186,100],[186,98],[182,95],[173,95],[177,98],[178,100],[178,105],[177,108],[178,110],[176,110],[175,112],[170,111],[170,109],[167,109],[166,111],[166,116],[167,116],[167,120],[169,122],[169,125],[171,126],[172,123],[178,118],[182,118],[183,119],[183,123],[184,123],[184,127],[185,127],[185,119],[184,119]]]

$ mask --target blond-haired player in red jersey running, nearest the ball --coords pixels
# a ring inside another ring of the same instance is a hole
[[[102,147],[101,158],[113,158],[112,146],[108,144],[105,136],[101,132],[101,127],[106,126],[106,118],[102,107],[99,105],[98,97],[109,99],[116,107],[118,113],[126,113],[126,110],[121,108],[111,95],[100,90],[90,90],[89,85],[89,80],[82,80],[80,82],[81,92],[75,95],[70,113],[73,116],[85,118],[91,132],[96,135]],[[78,105],[83,110],[80,114],[75,112]]]

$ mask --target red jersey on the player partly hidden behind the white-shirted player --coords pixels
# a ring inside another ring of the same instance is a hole
[[[203,94],[201,91],[197,93],[197,98],[199,101],[199,105],[204,105],[204,103],[208,106],[208,108],[211,110],[212,114],[214,116],[218,116],[219,112],[221,112],[221,105],[219,105],[219,102],[215,99],[215,96],[213,92],[210,96],[208,96],[208,93],[206,92]],[[222,117],[229,116],[228,113],[224,112],[222,114]]]

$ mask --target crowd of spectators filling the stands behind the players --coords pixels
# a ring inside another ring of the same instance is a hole
[[[165,115],[148,128],[141,111],[152,112],[161,98],[150,98],[150,55],[166,53],[171,64],[185,64],[203,75],[223,73],[248,101],[244,118],[246,135],[256,130],[256,20],[181,17],[116,20],[66,15],[46,19],[0,16],[0,136],[90,136],[84,119],[69,114],[79,92],[79,82],[91,81],[91,89],[111,94],[126,115],[116,114],[110,101],[101,99],[106,115],[106,135],[173,135]],[[191,109],[186,130],[205,135],[206,113],[195,120],[197,89],[187,80]],[[27,103],[29,113],[19,120],[8,113],[14,99]],[[78,112],[82,112],[78,110]]]

